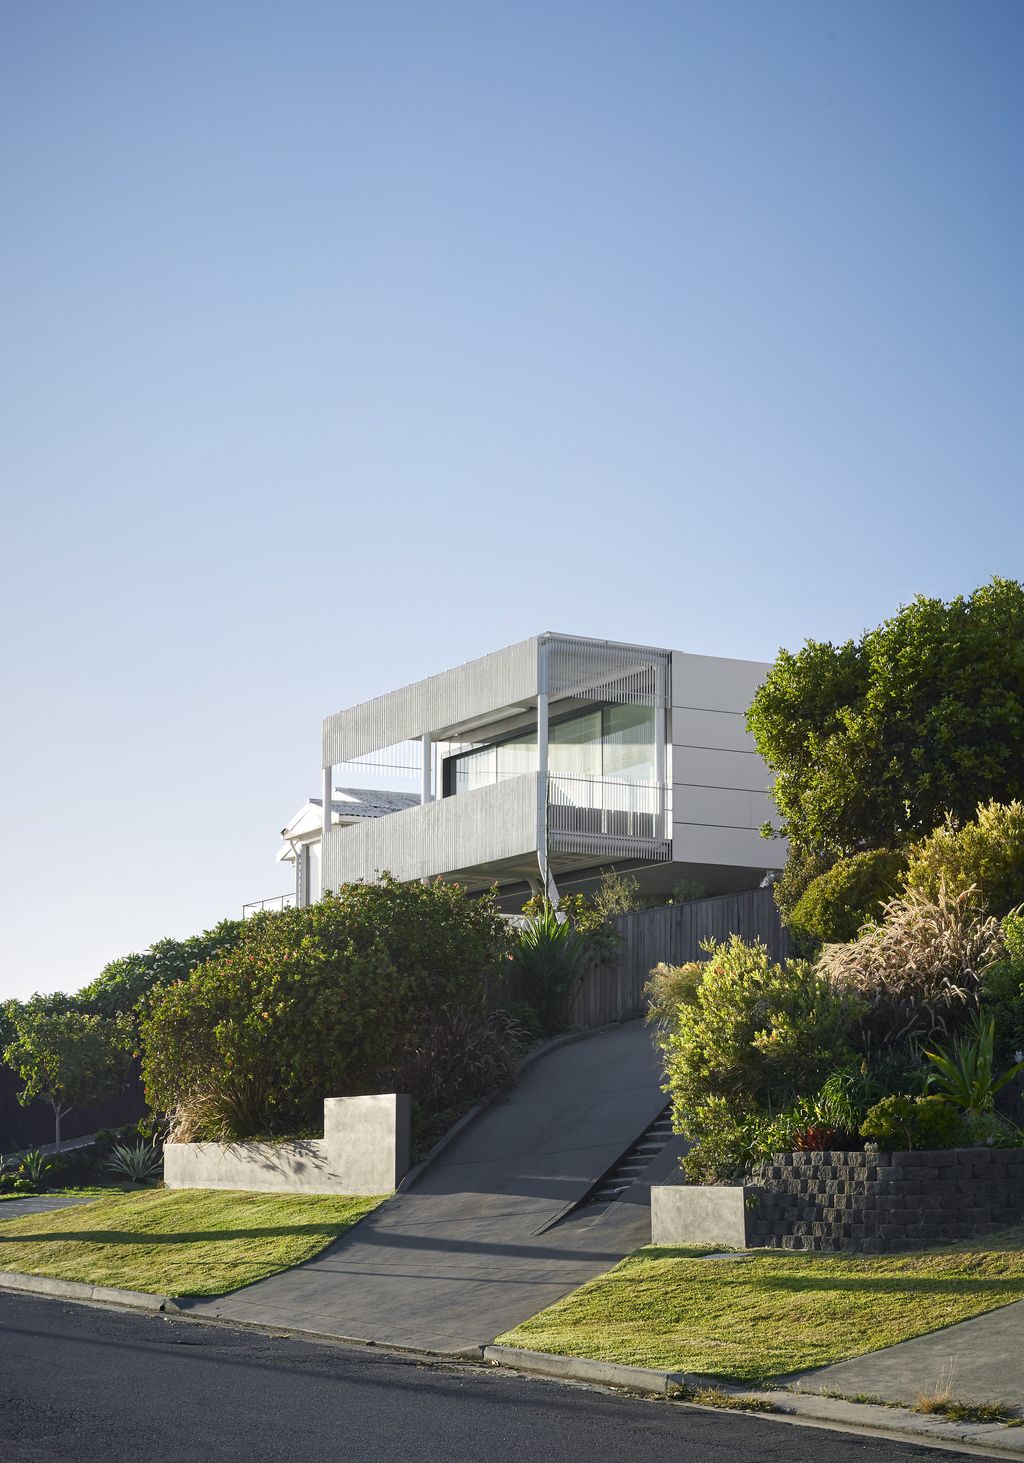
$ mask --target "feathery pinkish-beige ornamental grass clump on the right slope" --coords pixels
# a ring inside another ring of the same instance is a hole
[[[885,917],[850,945],[827,945],[819,970],[866,1004],[862,1049],[908,1039],[933,1040],[977,1009],[980,983],[1004,949],[999,922],[970,890],[939,890],[935,900],[889,900]]]

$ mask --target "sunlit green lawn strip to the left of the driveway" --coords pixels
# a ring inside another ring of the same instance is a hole
[[[287,1270],[380,1198],[138,1189],[3,1219],[0,1270],[158,1295],[222,1295]]]

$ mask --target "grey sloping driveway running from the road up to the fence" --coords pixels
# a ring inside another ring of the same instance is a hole
[[[560,1046],[315,1260],[178,1306],[386,1346],[478,1349],[650,1242],[647,1188],[676,1166],[674,1148],[600,1216],[559,1219],[664,1102],[642,1023]]]

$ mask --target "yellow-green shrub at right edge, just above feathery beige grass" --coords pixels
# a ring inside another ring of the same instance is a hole
[[[910,850],[907,892],[938,898],[974,890],[989,914],[1024,904],[1024,803],[979,803],[971,822],[945,822]]]

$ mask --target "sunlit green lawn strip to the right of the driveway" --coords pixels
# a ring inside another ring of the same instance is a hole
[[[904,1255],[638,1249],[506,1346],[765,1383],[1024,1298],[1024,1230]]]

